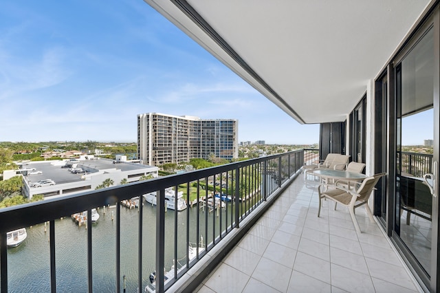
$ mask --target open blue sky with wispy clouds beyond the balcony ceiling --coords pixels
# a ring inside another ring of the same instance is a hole
[[[239,120],[239,142],[313,144],[300,125],[143,1],[3,1],[0,141],[137,138],[137,115]]]

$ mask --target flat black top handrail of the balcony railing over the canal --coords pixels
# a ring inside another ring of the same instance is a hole
[[[298,152],[298,150],[291,151],[289,153],[295,152]],[[85,191],[83,193],[77,193],[74,195],[64,195],[63,197],[45,199],[41,202],[32,202],[28,204],[21,204],[19,206],[1,208],[0,223],[5,225],[0,226],[0,233],[40,224],[45,221],[50,221],[51,219],[59,219],[60,217],[72,215],[89,208],[103,206],[104,204],[115,204],[118,201],[151,193],[161,188],[168,188],[171,186],[184,184],[194,180],[195,178],[210,177],[221,172],[236,169],[237,167],[250,166],[252,164],[270,160],[271,158],[278,158],[281,155],[287,155],[289,153],[268,155],[262,158],[233,162],[221,166],[189,171],[187,173],[157,177],[151,180],[144,180],[142,182],[111,186],[109,188],[99,189],[96,191]],[[115,193],[115,190],[120,192]],[[19,217],[19,215],[23,215],[23,210],[25,210],[26,217]],[[14,219],[14,221],[11,221],[10,219]]]

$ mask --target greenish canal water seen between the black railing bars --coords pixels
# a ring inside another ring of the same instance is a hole
[[[155,270],[155,213],[156,207],[144,202],[142,226],[142,280],[146,285],[148,276]],[[190,221],[187,223],[187,211]],[[100,218],[92,225],[92,265],[94,292],[115,292],[115,208],[99,208]],[[112,217],[113,213],[113,217]],[[199,235],[210,243],[213,230],[219,235],[230,225],[233,210],[223,208],[220,214],[200,210]],[[113,219],[112,219],[113,218]],[[205,220],[207,221],[207,226]],[[126,292],[137,292],[139,212],[121,206],[121,277],[126,276]],[[56,291],[87,292],[87,229],[78,226],[71,217],[56,220]],[[186,263],[186,228],[190,226],[190,242],[196,246],[197,208],[177,213],[177,268]],[[166,213],[165,266],[170,270],[174,259],[175,213]],[[206,234],[208,229],[208,235]],[[49,225],[27,228],[28,237],[17,248],[8,248],[9,292],[50,292],[50,243]],[[120,280],[121,288],[122,279]]]

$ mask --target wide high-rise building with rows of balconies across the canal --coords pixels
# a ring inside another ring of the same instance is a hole
[[[238,155],[238,120],[162,113],[137,115],[137,158],[144,164],[212,157],[231,160]]]

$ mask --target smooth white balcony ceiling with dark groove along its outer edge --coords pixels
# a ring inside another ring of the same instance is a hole
[[[430,3],[145,1],[300,123],[344,121]]]

